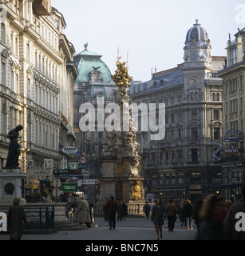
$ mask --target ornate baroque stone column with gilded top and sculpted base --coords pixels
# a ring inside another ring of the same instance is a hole
[[[140,156],[136,142],[136,130],[132,124],[132,103],[128,90],[132,78],[128,75],[126,62],[117,60],[117,105],[121,110],[121,130],[109,133],[107,145],[101,154],[101,194],[99,201],[106,202],[110,196],[130,203],[144,203],[144,178],[140,176]],[[125,129],[127,127],[127,129]]]

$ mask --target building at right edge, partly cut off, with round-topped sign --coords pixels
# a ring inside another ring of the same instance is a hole
[[[223,78],[223,194],[239,199],[245,182],[245,28],[227,42],[227,59],[219,77]]]

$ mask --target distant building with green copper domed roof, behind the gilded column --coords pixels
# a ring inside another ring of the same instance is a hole
[[[79,122],[84,115],[79,113],[80,106],[84,103],[92,103],[97,111],[97,98],[104,98],[107,105],[115,102],[117,90],[113,82],[111,71],[108,66],[101,60],[102,55],[88,50],[88,44],[85,44],[85,50],[74,56],[78,76],[74,85],[74,127],[77,138],[77,148],[79,152],[85,153],[88,162],[81,166],[82,170],[89,172],[90,178],[98,178],[101,174],[98,158],[107,139],[106,131],[97,131],[97,114],[96,114],[96,131],[83,132],[80,129]],[[104,122],[105,120],[101,120]]]

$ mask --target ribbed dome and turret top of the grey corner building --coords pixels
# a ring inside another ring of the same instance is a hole
[[[211,65],[211,45],[207,31],[198,23],[188,30],[184,46],[185,62],[207,62]]]

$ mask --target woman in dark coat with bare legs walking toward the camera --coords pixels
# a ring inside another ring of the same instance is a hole
[[[156,205],[152,208],[152,222],[155,225],[156,228],[156,235],[157,240],[160,238],[163,238],[163,230],[162,226],[164,225],[164,205],[162,205],[162,202],[160,198],[156,199]],[[160,233],[160,238],[159,238]]]

